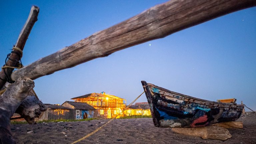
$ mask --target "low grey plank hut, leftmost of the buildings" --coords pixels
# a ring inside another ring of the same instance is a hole
[[[58,119],[74,119],[71,108],[61,106],[59,104],[45,104],[47,110],[42,113],[39,120],[58,120]]]

